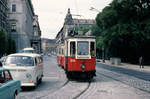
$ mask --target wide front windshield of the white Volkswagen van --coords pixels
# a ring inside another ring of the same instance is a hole
[[[14,64],[16,66],[34,66],[34,60],[28,56],[11,56],[6,59],[5,65]]]

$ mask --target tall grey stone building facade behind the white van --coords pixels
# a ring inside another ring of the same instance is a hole
[[[8,18],[11,27],[10,36],[16,42],[17,51],[26,47],[33,47],[33,45],[34,48],[36,48],[35,45],[39,46],[40,44],[34,44],[37,40],[40,42],[40,39],[36,37],[41,36],[41,31],[38,28],[39,30],[37,31],[40,33],[35,35],[35,27],[39,27],[39,24],[34,24],[38,20],[31,0],[8,0],[8,8]],[[39,49],[36,48],[36,50]]]

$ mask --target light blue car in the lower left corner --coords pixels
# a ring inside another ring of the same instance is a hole
[[[0,99],[15,99],[21,88],[19,80],[13,80],[8,69],[0,68]]]

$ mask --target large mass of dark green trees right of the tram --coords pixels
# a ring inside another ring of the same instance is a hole
[[[92,33],[97,38],[97,56],[120,57],[137,63],[143,56],[150,63],[150,0],[113,0],[96,17]]]

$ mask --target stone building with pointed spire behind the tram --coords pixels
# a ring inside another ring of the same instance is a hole
[[[93,19],[73,18],[70,9],[68,9],[65,22],[61,30],[56,35],[56,44],[63,43],[65,37],[74,35],[91,35],[91,27],[96,21]]]

